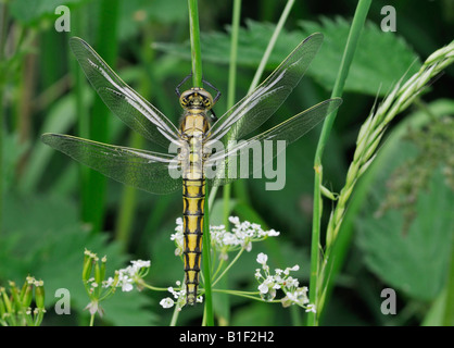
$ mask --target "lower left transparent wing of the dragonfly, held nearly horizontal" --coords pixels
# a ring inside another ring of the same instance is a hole
[[[43,134],[41,140],[89,167],[128,186],[152,194],[168,194],[181,188],[181,178],[169,154],[91,141],[68,135]]]

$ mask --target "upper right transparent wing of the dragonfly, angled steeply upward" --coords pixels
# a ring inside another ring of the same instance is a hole
[[[316,33],[301,42],[257,88],[213,124],[209,141],[216,141],[227,133],[229,139],[241,139],[268,120],[299,84],[323,38]]]

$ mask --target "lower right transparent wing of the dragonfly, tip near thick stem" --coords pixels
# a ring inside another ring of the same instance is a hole
[[[325,100],[249,140],[230,142],[224,150],[224,144],[218,141],[219,148],[205,161],[206,179],[213,186],[220,186],[238,178],[251,177],[251,174],[253,177],[262,177],[264,165],[273,161],[289,144],[315,127],[341,103],[340,98]]]

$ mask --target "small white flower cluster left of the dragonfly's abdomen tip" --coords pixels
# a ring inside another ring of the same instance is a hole
[[[133,290],[134,284],[140,288],[142,278],[147,275],[150,269],[150,261],[136,260],[130,261],[131,265],[126,269],[115,271],[115,277],[109,277],[103,282],[103,287],[121,287],[122,291],[128,293]]]

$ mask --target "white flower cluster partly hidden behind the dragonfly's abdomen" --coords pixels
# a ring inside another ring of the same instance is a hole
[[[231,232],[227,232],[224,225],[210,226],[211,245],[213,249],[220,251],[224,258],[227,252],[241,248],[251,251],[253,241],[279,236],[279,232],[275,229],[263,231],[261,225],[249,221],[240,222],[237,216],[230,216],[229,222],[232,225]],[[171,240],[174,240],[177,247],[175,254],[180,256],[184,249],[182,219],[178,217],[176,223],[177,226],[175,233],[171,235]]]

